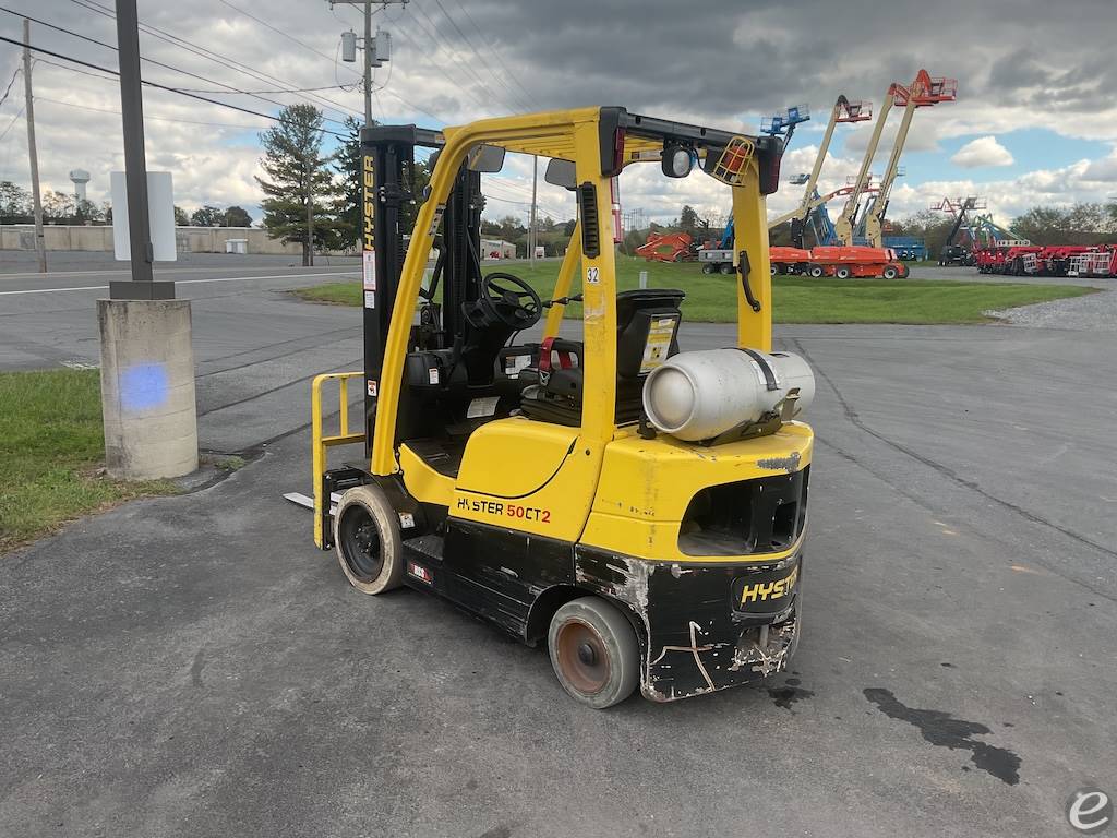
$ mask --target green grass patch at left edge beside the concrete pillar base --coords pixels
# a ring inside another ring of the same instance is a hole
[[[105,442],[97,370],[0,373],[0,553],[66,521],[173,484],[98,476]]]

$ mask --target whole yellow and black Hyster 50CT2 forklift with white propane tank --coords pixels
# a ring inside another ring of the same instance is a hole
[[[781,140],[593,107],[382,125],[361,143],[364,370],[314,381],[317,546],[336,549],[360,591],[431,591],[545,641],[562,686],[592,707],[637,686],[666,702],[784,669],[813,442],[795,417],[814,380],[771,346],[764,206]],[[417,147],[433,150],[420,194]],[[505,152],[550,159],[546,181],[577,204],[551,299],[514,265],[485,273],[481,174]],[[731,188],[735,346],[680,351],[682,291],[618,291],[611,179],[630,164],[700,168]],[[580,340],[560,334],[572,302]],[[542,337],[521,341],[544,313]],[[353,380],[364,410],[351,430]],[[365,459],[331,468],[330,449],[353,442]]]

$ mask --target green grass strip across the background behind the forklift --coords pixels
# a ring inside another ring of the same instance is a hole
[[[486,265],[487,270],[500,270]],[[531,283],[546,299],[551,295],[557,261],[508,266],[510,273]],[[687,293],[682,314],[690,322],[732,323],[736,320],[735,277],[703,274],[696,264],[645,261],[617,257],[621,289],[639,286],[648,272],[652,288],[681,288]],[[774,278],[773,318],[776,323],[985,323],[983,312],[1043,303],[1089,294],[1092,288],[1022,283],[966,283],[938,279],[811,279],[800,276]],[[361,305],[360,282],[332,283],[298,288],[298,297],[312,302]],[[580,317],[572,305],[567,315]]]

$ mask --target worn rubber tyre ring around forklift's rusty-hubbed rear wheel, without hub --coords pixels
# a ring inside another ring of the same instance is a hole
[[[558,664],[556,640],[558,630],[567,621],[580,621],[592,628],[609,653],[609,679],[596,693],[584,693],[575,687]],[[547,629],[547,651],[555,676],[572,698],[594,710],[620,704],[632,695],[640,683],[640,641],[636,629],[615,606],[600,597],[580,597],[555,611]]]

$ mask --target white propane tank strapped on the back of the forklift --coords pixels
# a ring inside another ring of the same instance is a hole
[[[743,422],[755,422],[799,388],[799,410],[814,399],[814,373],[790,352],[738,349],[680,352],[648,375],[643,410],[648,421],[677,439],[710,439]],[[775,379],[768,389],[765,363]]]

